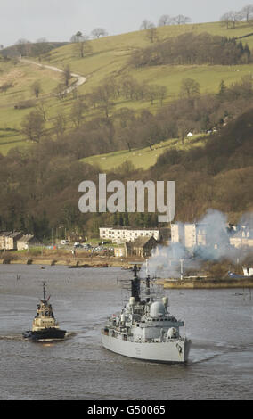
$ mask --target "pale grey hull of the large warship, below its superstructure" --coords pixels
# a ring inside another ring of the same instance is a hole
[[[102,346],[125,357],[167,364],[187,362],[191,341],[135,342],[102,333]]]

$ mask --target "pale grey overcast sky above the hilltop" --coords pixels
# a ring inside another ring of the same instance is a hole
[[[163,14],[184,14],[192,23],[219,21],[247,4],[253,0],[0,0],[0,45],[20,38],[69,41],[78,30],[90,35],[94,28],[118,35],[138,30],[144,19],[157,25]]]

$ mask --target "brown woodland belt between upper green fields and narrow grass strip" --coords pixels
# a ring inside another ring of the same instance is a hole
[[[45,137],[52,137],[53,147],[58,144],[62,155],[72,155],[76,159],[122,149],[129,152],[138,147],[152,149],[152,145],[173,137],[184,144],[189,131],[200,133],[219,129],[227,119],[248,109],[253,101],[251,75],[229,86],[221,80],[216,94],[204,95],[200,95],[200,84],[196,80],[184,78],[176,101],[160,106],[156,113],[145,109],[136,113],[126,106],[113,107],[113,94],[125,94],[129,99],[140,94],[140,85],[134,78],[124,80],[124,86],[112,80],[111,85],[109,81],[97,87],[94,94],[78,96],[69,116],[59,113],[51,120],[50,128],[46,125],[45,103],[37,103],[21,121],[23,138],[40,143]],[[151,87],[156,91],[155,86]],[[156,100],[160,102],[164,92],[158,92]],[[70,129],[67,129],[69,124]]]

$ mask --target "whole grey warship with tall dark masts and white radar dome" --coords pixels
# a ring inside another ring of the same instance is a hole
[[[187,362],[192,341],[179,333],[184,322],[167,311],[168,299],[151,297],[149,275],[146,299],[140,295],[141,280],[134,267],[131,297],[118,315],[110,316],[102,328],[102,346],[126,357],[161,363]]]

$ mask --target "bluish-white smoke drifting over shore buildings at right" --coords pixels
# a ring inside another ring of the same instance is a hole
[[[176,223],[184,226],[183,223]],[[237,230],[229,226],[227,216],[215,209],[208,209],[203,218],[196,222],[202,225],[206,232],[206,245],[194,248],[185,248],[180,242],[171,243],[168,246],[158,246],[151,252],[149,259],[149,275],[151,277],[180,278],[186,270],[195,271],[199,269],[203,260],[230,259],[232,262],[239,256],[241,249],[235,249],[230,244],[230,238],[237,234],[241,227],[246,227],[253,236],[253,213],[244,214],[237,225]],[[244,256],[252,253],[252,247],[244,251]],[[183,272],[182,272],[183,271]],[[146,273],[146,266],[143,264],[141,275]]]

